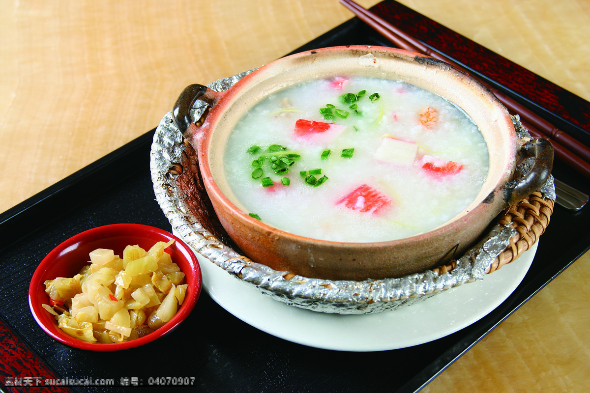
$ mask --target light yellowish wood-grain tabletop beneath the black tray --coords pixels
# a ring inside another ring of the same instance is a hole
[[[588,0],[400,2],[590,100]],[[352,18],[337,0],[0,7],[0,212],[157,126],[186,85]],[[589,271],[586,253],[423,391],[590,391]]]

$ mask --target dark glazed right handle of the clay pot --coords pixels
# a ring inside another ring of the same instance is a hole
[[[519,203],[533,191],[539,189],[551,174],[553,168],[553,146],[546,139],[533,139],[520,149],[520,158],[535,157],[529,173],[509,185],[507,203]]]

